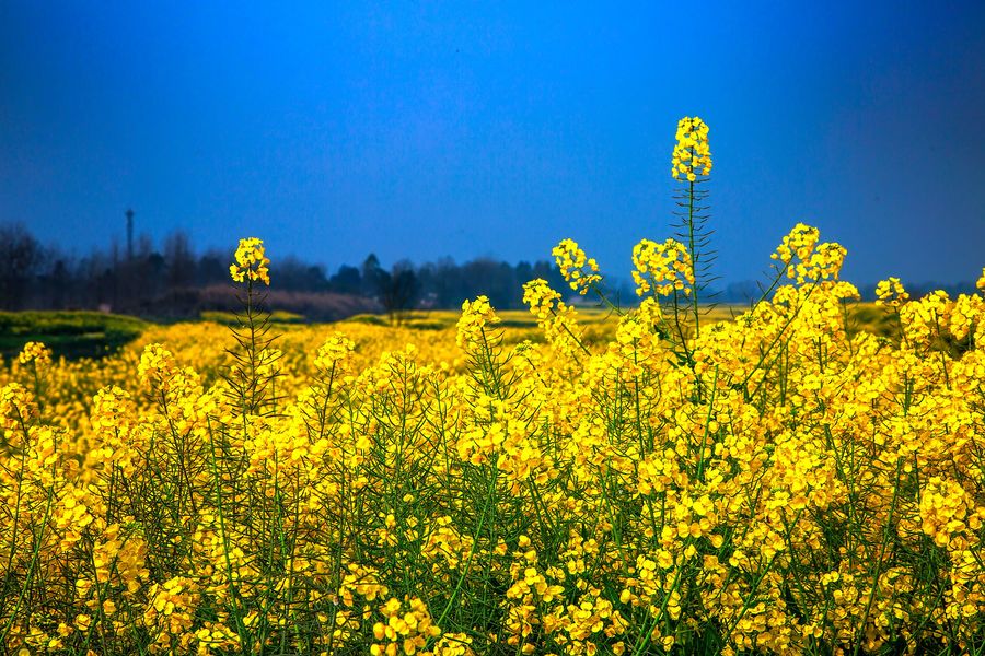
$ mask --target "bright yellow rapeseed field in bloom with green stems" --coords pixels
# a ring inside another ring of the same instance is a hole
[[[707,136],[679,129],[693,203]],[[985,298],[889,279],[899,330],[851,330],[844,248],[798,224],[715,321],[696,243],[640,242],[640,303],[589,325],[536,280],[536,329],[479,296],[420,330],[275,329],[244,239],[232,329],[27,344],[0,370],[0,649],[985,652]]]

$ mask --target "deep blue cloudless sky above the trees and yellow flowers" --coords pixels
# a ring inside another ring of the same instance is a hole
[[[664,238],[711,127],[718,272],[797,221],[857,282],[985,265],[985,3],[0,0],[0,222],[326,263]]]

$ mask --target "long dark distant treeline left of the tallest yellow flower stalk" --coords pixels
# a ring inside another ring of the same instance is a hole
[[[173,232],[160,246],[142,235],[129,248],[114,243],[88,255],[42,244],[22,224],[0,224],[0,309],[101,309],[157,318],[197,316],[237,307],[230,289],[229,251],[199,253],[187,233]],[[553,262],[515,266],[491,258],[456,263],[451,258],[384,268],[375,255],[360,266],[328,274],[322,265],[273,258],[273,308],[309,320],[359,313],[386,313],[399,321],[410,309],[457,308],[486,294],[497,308],[523,307],[523,283],[544,278],[566,290]]]

